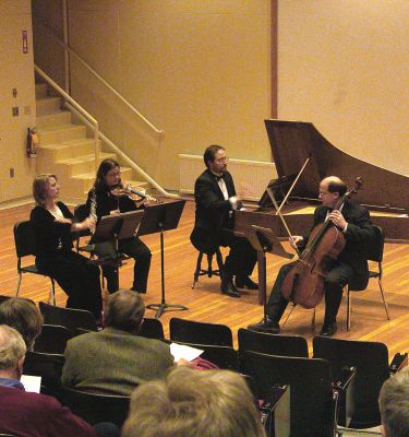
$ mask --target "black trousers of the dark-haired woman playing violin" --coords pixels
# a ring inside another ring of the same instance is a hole
[[[146,293],[147,277],[151,269],[152,253],[149,248],[137,237],[127,238],[119,241],[119,252],[133,258],[135,263],[133,267],[133,285],[132,288]],[[94,251],[104,258],[115,258],[117,250],[113,241],[100,243],[95,245]],[[119,290],[119,272],[118,269],[104,265],[104,276],[107,279],[108,292],[115,293]]]

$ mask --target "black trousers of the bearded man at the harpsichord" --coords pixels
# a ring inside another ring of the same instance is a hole
[[[230,247],[224,271],[226,275],[250,276],[257,262],[257,252],[244,237],[238,237],[232,231],[222,228],[218,234],[219,245]]]

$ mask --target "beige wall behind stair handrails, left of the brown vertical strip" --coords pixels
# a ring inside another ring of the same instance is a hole
[[[71,0],[70,43],[157,128],[155,135],[76,62],[72,92],[166,188],[180,153],[220,143],[237,158],[270,161],[269,0]],[[121,120],[121,116],[124,119]]]

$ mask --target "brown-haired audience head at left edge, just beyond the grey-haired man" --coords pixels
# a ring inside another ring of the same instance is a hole
[[[34,342],[41,332],[43,316],[34,302],[11,297],[0,304],[0,323],[19,331],[27,351],[33,351]]]

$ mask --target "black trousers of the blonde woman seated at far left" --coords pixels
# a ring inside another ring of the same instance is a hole
[[[97,320],[103,310],[99,268],[74,251],[59,251],[47,257],[36,257],[39,272],[53,277],[68,294],[67,307],[87,309]]]

